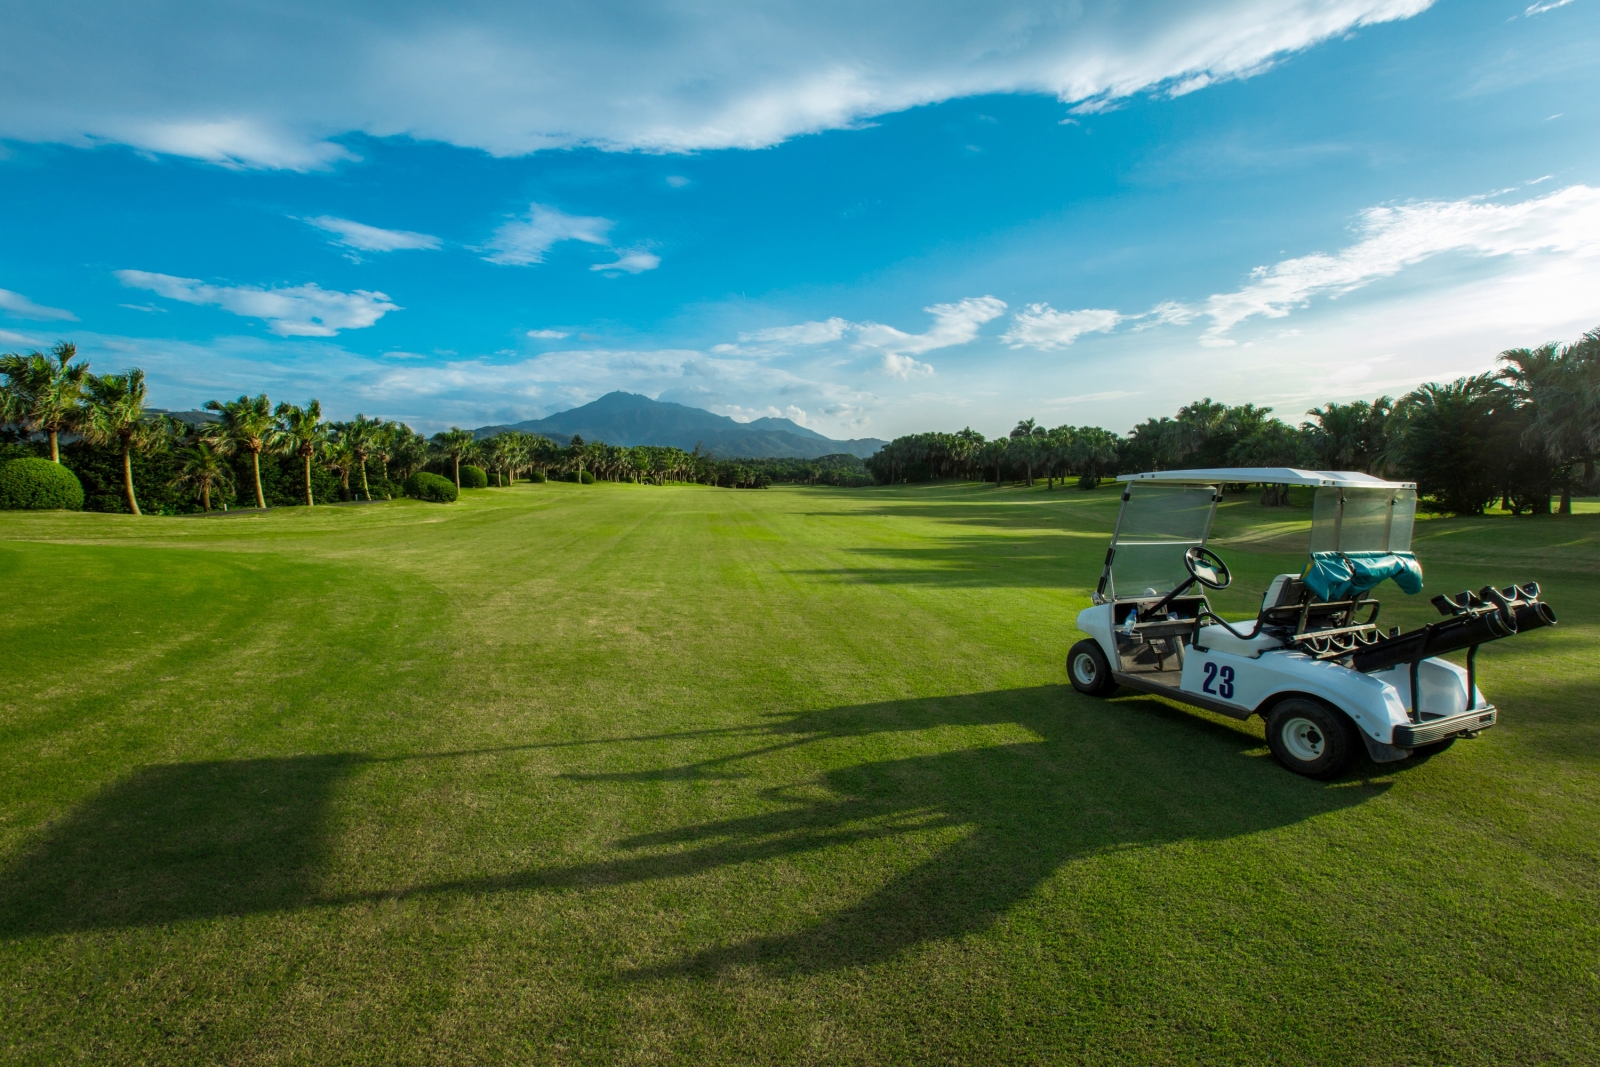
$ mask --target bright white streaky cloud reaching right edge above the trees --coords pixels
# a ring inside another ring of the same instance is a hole
[[[1227,333],[1262,315],[1283,318],[1315,296],[1338,298],[1442,253],[1522,256],[1536,251],[1600,254],[1600,189],[1570,186],[1520,203],[1482,198],[1424,200],[1362,213],[1362,240],[1256,267],[1250,285],[1205,302],[1205,346],[1229,346]]]

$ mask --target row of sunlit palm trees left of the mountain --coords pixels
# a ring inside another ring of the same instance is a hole
[[[693,482],[762,488],[773,482],[870,485],[856,456],[718,459],[682,448],[630,448],[506,430],[478,438],[451,427],[430,438],[403,422],[328,421],[322,405],[274,405],[266,394],[211,400],[173,414],[149,406],[144,373],[93,374],[77,347],[0,355],[0,459],[46,456],[85,488],[90,510],[142,514],[390,499],[419,470],[462,488],[544,482]],[[142,501],[142,504],[141,504]]]

